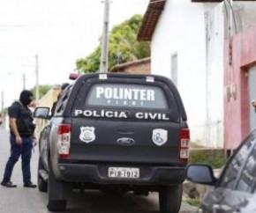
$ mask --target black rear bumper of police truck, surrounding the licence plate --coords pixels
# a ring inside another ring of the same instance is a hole
[[[169,185],[182,183],[185,178],[184,167],[170,166],[132,166],[139,167],[139,179],[109,178],[109,165],[59,164],[57,177],[68,182],[87,182],[97,184],[135,184]],[[131,166],[130,166],[131,167]]]

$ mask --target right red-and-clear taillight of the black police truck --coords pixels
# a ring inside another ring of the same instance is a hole
[[[190,130],[180,130],[179,161],[187,162],[189,158]]]

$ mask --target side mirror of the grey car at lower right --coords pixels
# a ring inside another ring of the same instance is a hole
[[[216,178],[210,165],[192,164],[186,167],[186,179],[194,183],[215,185]]]

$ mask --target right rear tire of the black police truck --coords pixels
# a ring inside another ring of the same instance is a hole
[[[163,213],[178,213],[182,201],[182,184],[163,186],[159,190],[159,207]]]

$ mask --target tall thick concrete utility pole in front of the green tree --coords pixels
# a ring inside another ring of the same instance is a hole
[[[105,0],[102,33],[101,72],[108,72],[109,61],[109,0]]]

